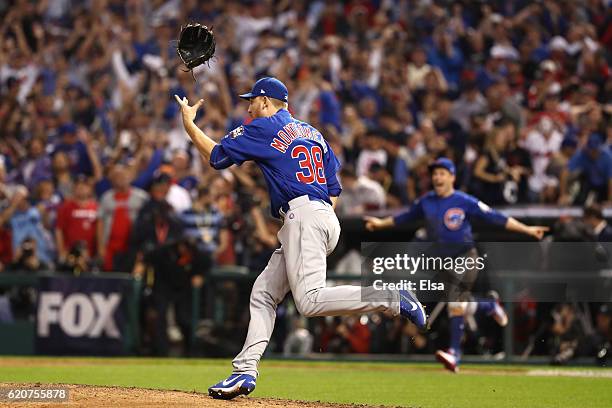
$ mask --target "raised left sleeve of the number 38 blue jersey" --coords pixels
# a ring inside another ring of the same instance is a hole
[[[247,160],[257,160],[261,158],[261,152],[265,151],[259,133],[259,127],[253,123],[238,126],[221,139],[221,147],[233,164],[241,165]]]

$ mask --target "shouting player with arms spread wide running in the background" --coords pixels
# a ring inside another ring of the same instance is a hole
[[[439,158],[430,165],[429,169],[433,191],[416,200],[408,211],[394,217],[382,219],[366,217],[366,228],[370,231],[391,228],[423,218],[429,240],[449,244],[447,247],[451,250],[460,248],[463,253],[455,255],[469,257],[477,255],[470,223],[474,217],[503,226],[509,231],[530,235],[538,240],[548,231],[548,227],[525,225],[491,209],[476,197],[455,191],[453,188],[455,165],[450,159]],[[436,358],[452,372],[457,372],[461,357],[465,316],[472,316],[476,311],[482,311],[492,316],[500,326],[508,324],[506,312],[497,299],[473,299],[469,296],[469,289],[476,280],[477,271],[470,272],[473,273],[465,273],[465,279],[460,284],[451,287],[453,293],[447,293],[450,300],[447,306],[451,327],[450,348],[448,351],[436,352]]]

